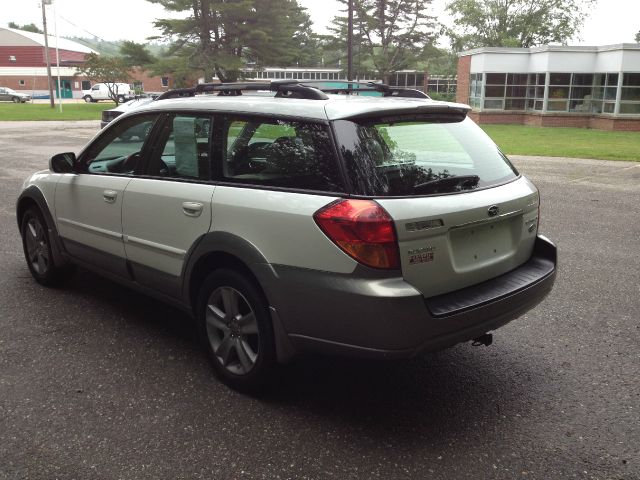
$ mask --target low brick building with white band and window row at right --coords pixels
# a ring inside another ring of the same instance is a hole
[[[462,52],[457,101],[480,124],[640,131],[640,44]]]

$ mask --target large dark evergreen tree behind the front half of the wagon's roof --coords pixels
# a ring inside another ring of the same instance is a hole
[[[205,78],[236,80],[251,63],[288,66],[296,61],[311,22],[296,0],[148,0],[186,18],[158,19],[175,40],[175,53]]]

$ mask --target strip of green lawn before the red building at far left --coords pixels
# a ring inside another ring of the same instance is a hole
[[[47,103],[0,103],[3,120],[100,120],[103,110],[115,107],[113,102],[65,103],[62,113]]]

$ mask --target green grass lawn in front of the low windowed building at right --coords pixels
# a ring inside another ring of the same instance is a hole
[[[640,132],[606,132],[586,128],[483,125],[507,155],[596,158],[640,162]]]

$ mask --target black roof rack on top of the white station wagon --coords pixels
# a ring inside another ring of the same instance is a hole
[[[332,85],[339,83],[340,86]],[[384,83],[348,82],[325,80],[273,80],[271,82],[230,82],[201,83],[193,88],[178,88],[160,95],[157,100],[168,98],[193,97],[200,93],[218,92],[221,96],[239,96],[243,91],[271,91],[276,97],[306,98],[309,100],[327,100],[327,93],[343,93],[358,95],[364,92],[378,92],[383,97],[429,98],[429,96],[413,88],[390,87]]]

